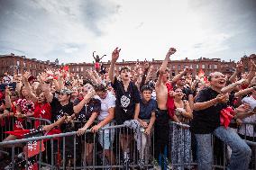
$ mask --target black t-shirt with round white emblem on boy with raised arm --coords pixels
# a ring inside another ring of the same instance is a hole
[[[136,85],[130,82],[127,91],[124,91],[123,82],[114,77],[112,84],[115,92],[115,114],[114,119],[118,124],[123,121],[133,120],[135,103],[140,103],[141,96]]]

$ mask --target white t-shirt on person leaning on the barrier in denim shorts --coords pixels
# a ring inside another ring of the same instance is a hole
[[[115,97],[113,94],[107,92],[105,99],[101,99],[99,96],[96,95],[96,99],[99,99],[101,102],[101,111],[97,116],[97,120],[103,121],[105,120],[106,116],[108,115],[108,109],[115,107]]]

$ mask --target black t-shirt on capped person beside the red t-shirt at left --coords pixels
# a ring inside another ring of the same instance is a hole
[[[61,117],[65,114],[71,116],[74,113],[73,110],[73,103],[69,102],[66,105],[61,105],[59,100],[56,97],[53,97],[52,102],[50,103],[51,106],[51,121],[55,122],[58,121]],[[61,129],[63,126],[61,125]]]

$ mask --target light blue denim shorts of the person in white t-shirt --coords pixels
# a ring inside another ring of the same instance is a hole
[[[107,128],[109,126],[112,126],[112,123],[106,124],[103,128]],[[110,149],[113,141],[114,141],[114,129],[111,130],[99,130],[98,131],[98,141],[102,148],[104,149]]]

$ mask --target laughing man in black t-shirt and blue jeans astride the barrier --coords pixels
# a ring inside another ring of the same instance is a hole
[[[210,86],[202,89],[197,95],[191,122],[191,131],[197,139],[197,162],[199,170],[210,170],[213,164],[213,149],[211,146],[212,134],[232,148],[233,153],[229,169],[248,169],[251,157],[251,148],[237,133],[229,127],[224,128],[220,122],[220,112],[227,107],[232,94],[222,94],[226,84],[225,76],[220,72],[212,73],[209,78]],[[234,110],[237,113],[239,107]]]

